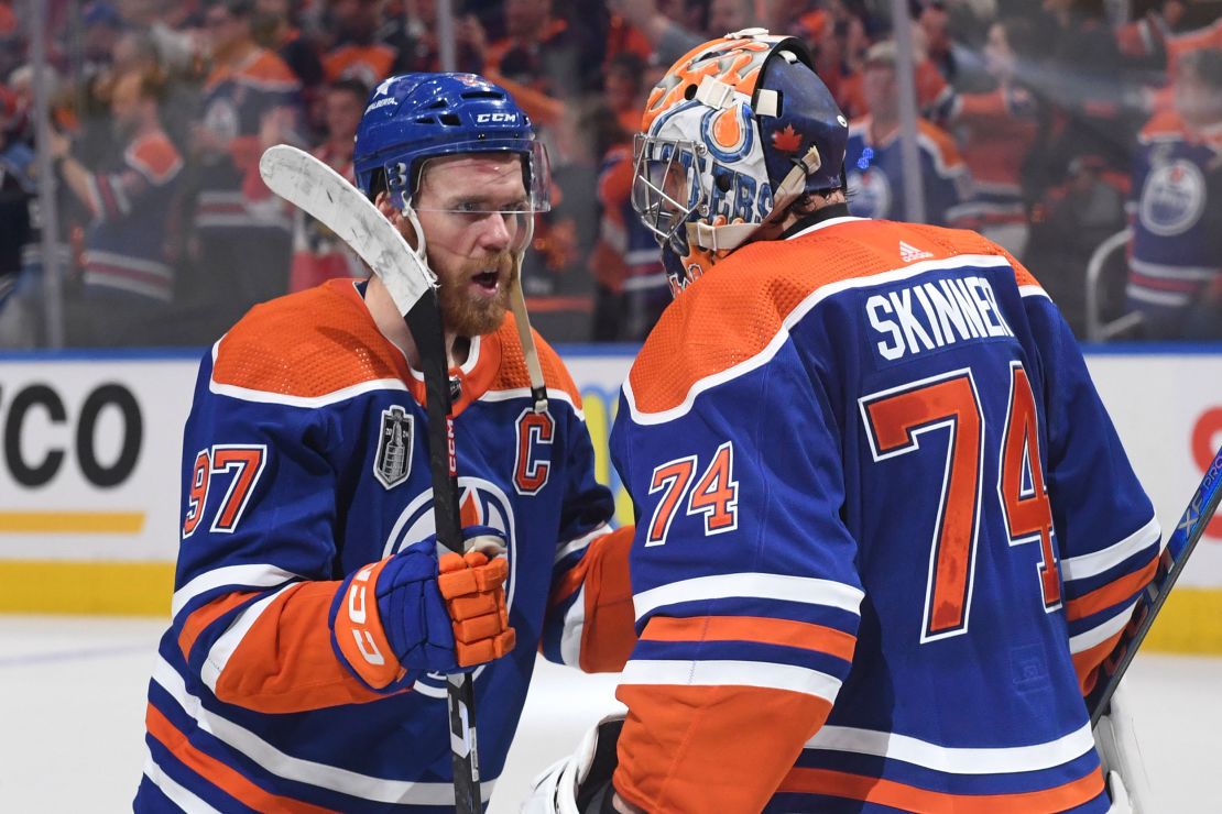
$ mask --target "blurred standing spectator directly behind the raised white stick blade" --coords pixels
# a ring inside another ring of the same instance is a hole
[[[301,83],[251,34],[252,0],[215,0],[204,12],[213,61],[193,132],[198,170],[194,229],[210,338],[255,303],[288,289],[292,217],[259,178],[259,155],[299,142]]]

